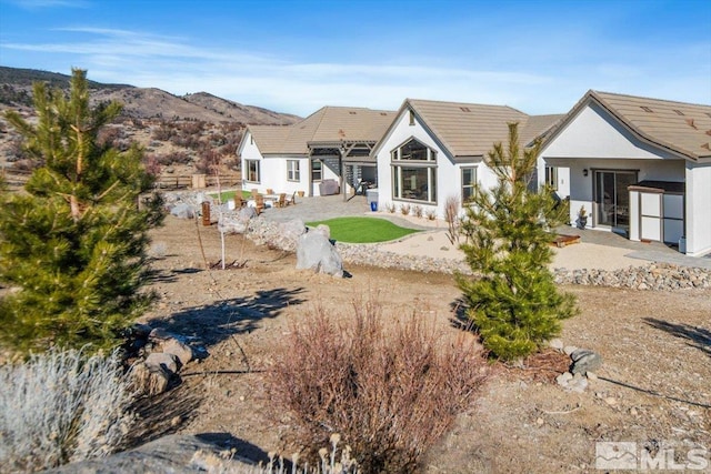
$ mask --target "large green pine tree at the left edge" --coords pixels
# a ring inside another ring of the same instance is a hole
[[[39,168],[24,192],[0,191],[0,282],[14,289],[0,300],[0,344],[111,346],[152,301],[139,290],[160,200],[137,209],[151,186],[137,145],[97,140],[121,105],[90,107],[86,71],[72,70],[69,97],[43,83],[33,91],[37,124],[6,114]]]

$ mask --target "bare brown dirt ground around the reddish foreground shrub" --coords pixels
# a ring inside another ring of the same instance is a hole
[[[332,279],[297,271],[294,255],[240,235],[227,235],[226,249],[228,262],[246,265],[206,270],[206,261],[220,260],[214,226],[169,216],[153,233],[152,286],[161,300],[144,322],[197,337],[210,355],[184,367],[182,384],[147,412],[143,441],[176,431],[227,433],[226,446],[238,454],[289,457],[289,417],[272,413],[264,371],[290,322],[317,303],[343,311],[377,291],[390,315],[415,312],[459,331],[451,321],[460,293],[450,275],[347,265],[352,278]],[[602,441],[635,442],[652,455],[672,445],[681,463],[689,443],[711,448],[711,291],[564,290],[577,295],[581,314],[565,321],[562,339],[602,355],[599,377],[584,393],[568,393],[552,376],[533,376],[544,371],[493,367],[475,406],[429,454],[428,473],[601,472]]]

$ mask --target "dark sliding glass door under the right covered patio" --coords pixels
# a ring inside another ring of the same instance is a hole
[[[637,183],[637,171],[595,171],[595,225],[624,232],[630,230],[630,192]]]

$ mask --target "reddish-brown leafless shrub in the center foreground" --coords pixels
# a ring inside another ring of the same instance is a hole
[[[329,317],[317,307],[294,325],[271,372],[276,405],[311,458],[340,433],[362,472],[415,472],[473,402],[484,357],[470,334],[445,336],[418,314],[385,325],[373,297],[352,309]]]

